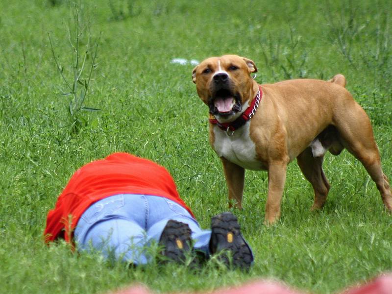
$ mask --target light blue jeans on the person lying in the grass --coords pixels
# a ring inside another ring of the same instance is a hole
[[[211,231],[202,230],[181,205],[159,196],[124,194],[95,202],[79,219],[74,240],[78,250],[96,249],[106,258],[147,264],[151,255],[146,248],[159,241],[169,220],[187,223],[194,248],[209,255]]]

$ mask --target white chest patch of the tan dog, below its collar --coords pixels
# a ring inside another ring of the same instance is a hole
[[[235,163],[247,170],[261,170],[262,164],[257,159],[256,147],[249,137],[249,125],[237,129],[233,136],[214,126],[214,150],[218,156]]]

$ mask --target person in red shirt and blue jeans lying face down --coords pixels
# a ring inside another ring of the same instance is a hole
[[[180,198],[170,173],[162,166],[128,153],[113,153],[77,170],[50,210],[45,242],[58,238],[77,250],[97,249],[108,258],[143,265],[153,240],[169,260],[183,262],[187,251],[220,259],[247,270],[253,254],[229,212],[211,219],[211,230],[200,228]]]

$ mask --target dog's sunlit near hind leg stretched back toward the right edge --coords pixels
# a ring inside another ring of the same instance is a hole
[[[368,171],[381,194],[385,207],[392,211],[392,192],[387,176],[381,169],[381,159],[374,141],[373,130],[365,111],[357,104],[346,109],[343,120],[337,120],[343,146],[353,154]]]

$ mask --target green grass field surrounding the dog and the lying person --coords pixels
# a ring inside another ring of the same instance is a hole
[[[173,64],[173,58],[243,55],[255,61],[259,83],[343,73],[371,119],[392,179],[390,1],[79,2],[79,26],[86,28],[79,68],[89,35],[91,46],[77,93],[87,86],[97,43],[83,106],[100,110],[71,104],[73,115],[73,96],[61,95],[69,90],[52,50],[73,83],[75,43],[68,30],[73,41],[74,5],[0,2],[0,293],[104,293],[134,282],[164,293],[273,278],[326,294],[392,270],[392,218],[347,151],[325,158],[331,191],[319,213],[309,211],[313,191],[292,163],[282,218],[269,228],[263,224],[267,173],[246,172],[244,210],[233,212],[255,253],[248,273],[217,268],[214,261],[196,273],[155,264],[127,270],[98,255],[73,254],[66,244],[47,247],[42,238],[46,214],[72,173],[114,151],[165,166],[203,227],[228,209],[193,66]]]

